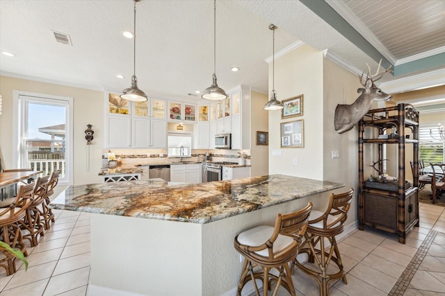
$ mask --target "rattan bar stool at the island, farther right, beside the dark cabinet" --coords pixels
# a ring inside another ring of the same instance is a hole
[[[307,275],[314,277],[320,286],[320,295],[323,296],[329,295],[331,281],[341,278],[345,284],[348,284],[346,275],[343,272],[343,263],[341,262],[341,255],[335,236],[343,232],[343,225],[346,221],[353,195],[354,189],[352,188],[346,193],[331,193],[327,210],[325,212],[314,210],[309,216],[305,241],[300,247],[300,254],[306,253],[308,255],[307,260],[312,263],[315,261],[318,269],[302,265],[298,259],[295,259],[291,266],[292,272],[294,265],[297,265]],[[325,240],[330,243],[330,250],[325,247]],[[318,244],[319,249],[316,248]],[[327,273],[327,268],[331,261],[339,268],[339,271],[334,274]]]

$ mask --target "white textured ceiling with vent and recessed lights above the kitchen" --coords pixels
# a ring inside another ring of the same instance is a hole
[[[229,90],[243,84],[268,92],[265,60],[272,55],[270,23],[278,26],[276,53],[301,40],[321,51],[329,49],[355,69],[364,71],[366,62],[371,67],[377,65],[378,60],[304,2],[217,1],[216,74],[220,87]],[[122,37],[123,31],[132,28],[131,0],[1,0],[0,50],[17,56],[0,55],[0,73],[120,92],[129,87],[133,73],[133,41]],[[70,35],[72,46],[56,42],[52,31]],[[136,75],[147,94],[188,97],[209,87],[213,1],[140,1],[136,33]],[[241,70],[232,72],[231,67]],[[415,73],[425,71],[428,69]],[[116,78],[118,74],[125,78]],[[391,79],[388,75],[382,81]]]

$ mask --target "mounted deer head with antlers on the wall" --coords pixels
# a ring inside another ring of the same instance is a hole
[[[382,78],[385,73],[391,72],[391,70],[389,70],[391,66],[385,69],[385,71],[380,72],[381,64],[382,60],[378,63],[378,69],[375,71],[375,74],[371,73],[369,64],[366,64],[366,66],[368,66],[368,73],[365,77],[364,73],[359,76],[360,84],[364,86],[357,89],[360,96],[351,105],[339,104],[337,108],[335,108],[334,128],[339,134],[343,134],[343,132],[347,132],[353,128],[354,125],[362,119],[364,114],[368,113],[374,101],[391,100],[392,96],[385,94],[385,92],[382,92],[374,85],[374,82]]]

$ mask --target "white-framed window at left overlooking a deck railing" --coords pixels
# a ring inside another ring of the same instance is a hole
[[[72,98],[15,92],[15,164],[72,184]]]

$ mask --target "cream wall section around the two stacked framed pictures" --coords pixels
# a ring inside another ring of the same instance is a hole
[[[275,89],[280,101],[303,94],[303,115],[282,120],[281,111],[269,112],[269,173],[323,180],[323,53],[303,45],[275,60]],[[280,123],[300,119],[305,147],[280,148]],[[273,150],[281,150],[282,155],[272,156]]]

